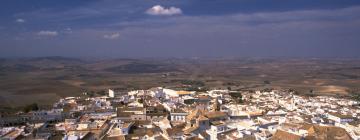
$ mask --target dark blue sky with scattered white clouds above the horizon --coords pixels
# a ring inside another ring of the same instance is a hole
[[[360,57],[359,0],[0,3],[0,57]]]

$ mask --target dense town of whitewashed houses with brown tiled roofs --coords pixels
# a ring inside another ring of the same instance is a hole
[[[0,139],[359,140],[359,113],[357,101],[291,90],[109,89],[1,115]]]

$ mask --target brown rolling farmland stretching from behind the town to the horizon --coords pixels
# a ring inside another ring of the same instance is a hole
[[[2,59],[0,106],[50,105],[82,92],[104,94],[156,86],[181,88],[184,81],[206,89],[291,88],[300,94],[358,92],[360,61],[354,59]]]

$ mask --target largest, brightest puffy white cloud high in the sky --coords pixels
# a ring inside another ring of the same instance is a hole
[[[149,15],[171,16],[171,15],[182,14],[182,11],[180,8],[176,8],[176,7],[165,8],[165,7],[162,7],[161,5],[155,5],[155,6],[151,7],[150,9],[148,9],[146,11],[146,13]]]

